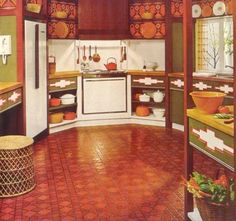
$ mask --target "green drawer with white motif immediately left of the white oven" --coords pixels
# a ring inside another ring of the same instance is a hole
[[[49,91],[63,91],[77,88],[77,77],[49,80]]]

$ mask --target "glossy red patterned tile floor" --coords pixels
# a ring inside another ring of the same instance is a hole
[[[184,220],[182,132],[74,128],[49,135],[34,150],[37,186],[0,199],[1,221]],[[213,161],[194,157],[197,169],[213,174]]]

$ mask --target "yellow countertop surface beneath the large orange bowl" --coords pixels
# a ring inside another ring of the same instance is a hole
[[[225,119],[214,118],[214,114],[203,114],[197,109],[188,109],[187,115],[188,117],[198,120],[203,124],[207,124],[208,126],[220,130],[230,136],[234,136],[234,123],[225,124]]]

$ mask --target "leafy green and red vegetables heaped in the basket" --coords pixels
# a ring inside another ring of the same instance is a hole
[[[198,172],[193,172],[189,181],[184,180],[187,190],[197,198],[205,198],[210,203],[227,205],[234,200],[234,182],[225,175],[213,180]]]

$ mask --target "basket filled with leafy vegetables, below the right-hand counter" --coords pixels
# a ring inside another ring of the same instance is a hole
[[[233,220],[234,182],[225,174],[213,180],[198,172],[193,172],[187,190],[193,194],[203,221]]]

